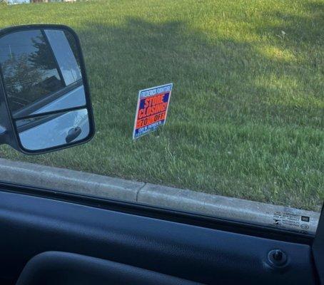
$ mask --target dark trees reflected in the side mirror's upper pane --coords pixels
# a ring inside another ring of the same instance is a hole
[[[16,111],[62,87],[48,44],[41,34],[31,39],[28,49],[1,63],[11,110]],[[10,57],[9,57],[10,56]]]

